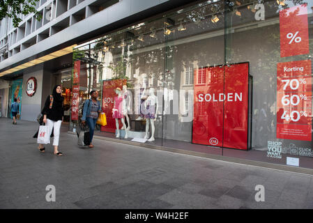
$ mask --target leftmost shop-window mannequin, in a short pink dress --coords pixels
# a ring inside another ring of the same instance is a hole
[[[119,118],[121,118],[123,127],[125,129],[126,129],[126,125],[125,125],[125,121],[124,121],[123,114],[122,114],[122,101],[123,101],[122,90],[120,88],[116,88],[115,93],[117,94],[117,96],[115,96],[114,98],[114,108],[112,109],[112,116],[113,118],[115,118],[115,125],[116,125],[116,130],[117,130],[116,138],[119,138],[120,136]],[[128,138],[128,130],[125,131],[125,139],[127,138]]]

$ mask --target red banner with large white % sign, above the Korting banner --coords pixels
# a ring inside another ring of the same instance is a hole
[[[280,56],[309,53],[307,4],[280,10]]]

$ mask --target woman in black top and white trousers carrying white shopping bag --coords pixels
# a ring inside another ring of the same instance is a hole
[[[53,129],[54,155],[58,156],[62,155],[62,153],[58,151],[58,147],[61,123],[63,122],[64,116],[63,100],[62,87],[61,85],[56,85],[54,86],[52,95],[48,95],[47,100],[45,101],[45,107],[43,108],[43,122],[49,126],[49,135],[52,133]],[[39,144],[38,149],[40,152],[45,152],[43,144]]]

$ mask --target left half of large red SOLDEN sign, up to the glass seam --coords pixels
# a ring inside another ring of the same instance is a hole
[[[222,146],[224,68],[194,70],[194,118],[192,143]]]

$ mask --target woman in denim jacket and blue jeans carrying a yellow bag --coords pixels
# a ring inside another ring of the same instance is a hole
[[[84,103],[83,114],[82,114],[82,124],[89,126],[89,134],[90,134],[90,145],[89,148],[93,148],[93,144],[91,144],[93,140],[93,132],[96,127],[96,122],[98,120],[98,116],[101,112],[100,101],[98,100],[98,91],[90,92],[91,98],[86,100]]]

